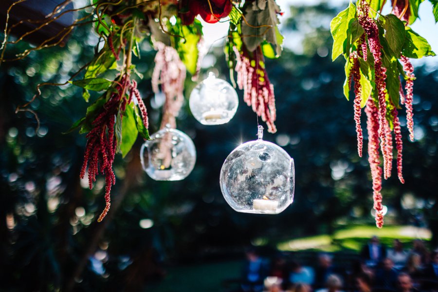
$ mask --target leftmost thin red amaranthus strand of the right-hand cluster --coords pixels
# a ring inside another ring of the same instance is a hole
[[[357,153],[359,157],[362,157],[362,147],[363,147],[363,134],[361,127],[361,101],[362,101],[362,86],[361,86],[361,73],[359,67],[358,54],[352,52],[350,54],[350,60],[353,62],[353,67],[351,69],[351,75],[354,81],[354,121],[356,122],[356,133],[357,133]],[[351,79],[350,79],[351,80]]]

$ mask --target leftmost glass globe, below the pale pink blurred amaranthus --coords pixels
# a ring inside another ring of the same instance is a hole
[[[151,136],[140,150],[143,169],[156,181],[181,181],[193,170],[196,149],[182,131],[164,128]]]

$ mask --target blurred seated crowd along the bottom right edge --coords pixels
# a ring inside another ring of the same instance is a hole
[[[372,237],[352,260],[336,261],[324,253],[306,264],[284,255],[269,261],[249,249],[241,291],[438,292],[438,250],[429,251],[420,239],[407,250],[398,239],[386,248],[378,237]]]

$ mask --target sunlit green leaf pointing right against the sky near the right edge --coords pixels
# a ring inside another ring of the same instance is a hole
[[[406,27],[402,54],[408,58],[416,59],[425,56],[435,56],[427,40],[414,32],[410,27]]]

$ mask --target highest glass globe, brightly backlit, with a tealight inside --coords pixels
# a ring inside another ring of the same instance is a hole
[[[190,93],[190,110],[203,125],[228,123],[236,114],[238,105],[236,90],[212,72]]]

